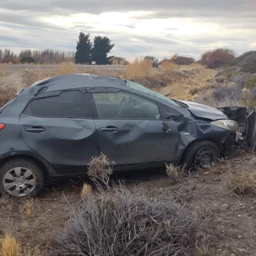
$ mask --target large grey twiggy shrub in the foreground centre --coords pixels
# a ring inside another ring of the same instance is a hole
[[[92,193],[74,209],[48,255],[192,255],[198,224],[172,201],[150,202],[120,186]]]

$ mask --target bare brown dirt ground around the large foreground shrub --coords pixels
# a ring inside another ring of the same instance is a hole
[[[125,180],[132,193],[154,200],[172,198],[196,212],[202,225],[196,234],[195,255],[256,255],[255,194],[237,196],[223,184],[230,172],[256,172],[255,159],[252,154],[242,154],[209,169],[187,173],[176,185],[170,183],[164,170],[122,173],[113,179]],[[49,186],[33,200],[1,198],[0,238],[7,232],[19,239],[22,248],[32,248],[31,255],[45,255],[53,232],[64,227],[70,209],[81,202],[83,182]]]

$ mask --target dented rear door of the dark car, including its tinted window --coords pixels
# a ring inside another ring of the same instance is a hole
[[[64,90],[34,97],[20,116],[24,141],[61,175],[84,175],[99,154],[86,90]]]

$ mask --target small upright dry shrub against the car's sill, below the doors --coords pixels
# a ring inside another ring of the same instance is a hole
[[[100,154],[98,157],[92,157],[90,167],[88,168],[88,175],[97,188],[101,188],[102,185],[109,188],[109,177],[112,173],[113,170],[109,166],[107,156]]]

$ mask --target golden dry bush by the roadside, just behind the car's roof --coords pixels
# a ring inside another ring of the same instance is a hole
[[[152,63],[150,60],[143,60],[142,58],[136,58],[133,63],[127,65],[124,76],[126,78],[136,78],[147,76]]]

